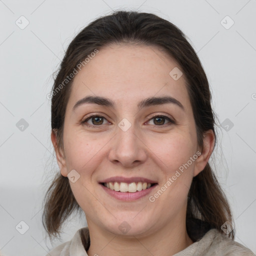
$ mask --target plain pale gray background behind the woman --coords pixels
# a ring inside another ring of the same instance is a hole
[[[210,161],[233,210],[235,240],[256,252],[256,0],[0,0],[0,250],[45,255],[86,225],[72,215],[52,245],[42,227],[43,194],[57,170],[46,95],[74,35],[119,8],[168,19],[198,53],[219,119]]]

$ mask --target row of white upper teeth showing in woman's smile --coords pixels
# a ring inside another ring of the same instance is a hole
[[[141,191],[146,188],[149,188],[151,186],[151,183],[147,182],[131,182],[131,183],[125,183],[125,182],[106,182],[104,183],[104,186],[107,188],[110,188],[111,190],[120,191],[120,192],[136,192]]]

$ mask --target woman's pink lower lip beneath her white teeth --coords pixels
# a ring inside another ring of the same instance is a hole
[[[134,201],[137,200],[147,194],[149,194],[156,186],[150,186],[147,189],[136,191],[136,192],[120,192],[111,190],[110,188],[105,187],[104,185],[100,184],[100,186],[111,196],[113,196],[116,199],[122,200],[122,201]]]

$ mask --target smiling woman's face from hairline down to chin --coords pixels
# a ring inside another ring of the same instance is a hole
[[[134,235],[184,221],[192,177],[206,161],[198,156],[192,108],[177,68],[156,47],[112,45],[75,75],[57,159],[62,175],[72,170],[69,183],[89,227]],[[76,104],[87,96],[104,100]],[[149,99],[158,97],[180,103]],[[146,179],[156,184],[141,190]],[[141,191],[113,191],[101,184],[107,180]]]

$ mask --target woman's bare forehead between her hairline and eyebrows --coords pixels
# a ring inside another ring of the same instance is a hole
[[[184,75],[175,80],[169,74],[177,68],[177,62],[155,46],[108,45],[75,75],[69,103],[73,106],[86,95],[112,98],[119,104],[170,95],[186,108]]]

